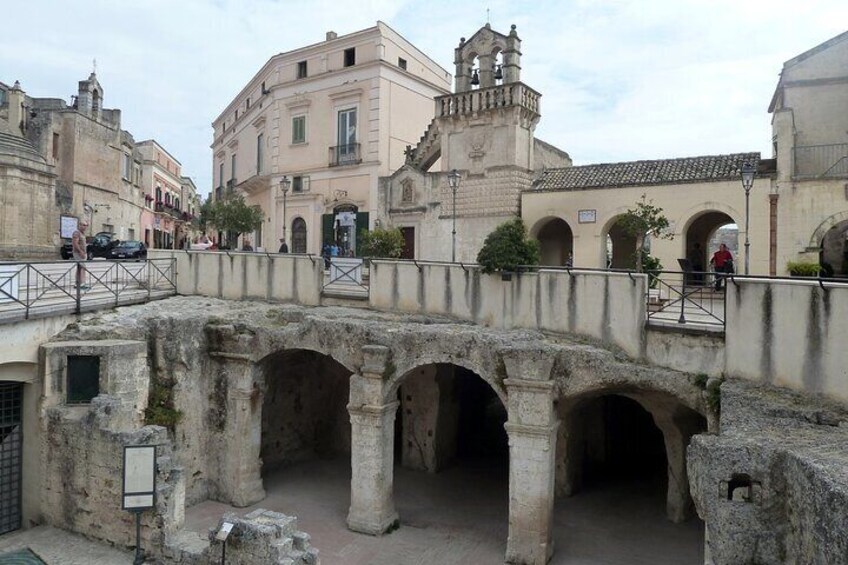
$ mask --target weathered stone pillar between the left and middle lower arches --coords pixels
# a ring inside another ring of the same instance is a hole
[[[359,375],[350,380],[351,446],[348,527],[380,535],[398,524],[393,499],[394,423],[398,403],[387,402],[389,349],[366,345]]]

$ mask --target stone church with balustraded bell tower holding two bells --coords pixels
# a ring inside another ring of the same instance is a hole
[[[521,82],[514,25],[503,34],[486,24],[460,39],[454,64],[454,92],[435,98],[430,126],[384,182],[381,213],[416,226],[418,258],[446,260],[455,248],[457,261],[473,262],[486,236],[520,215],[521,192],[532,188],[541,95]],[[455,194],[447,180],[454,169]],[[419,187],[414,202],[404,200],[404,183]]]

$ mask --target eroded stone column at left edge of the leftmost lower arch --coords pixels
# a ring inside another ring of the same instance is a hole
[[[227,416],[221,447],[220,488],[224,502],[245,507],[265,498],[262,488],[262,394],[254,387],[250,355],[210,353],[227,378]]]

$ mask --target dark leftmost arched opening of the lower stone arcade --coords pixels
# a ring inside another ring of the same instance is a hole
[[[260,363],[260,457],[269,496],[319,473],[340,474],[338,485],[347,494],[350,375],[332,357],[311,350],[282,351]],[[343,509],[347,502],[343,497],[338,504]]]

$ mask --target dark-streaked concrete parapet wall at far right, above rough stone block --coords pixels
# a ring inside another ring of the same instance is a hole
[[[848,401],[848,285],[737,279],[726,299],[728,375]]]

